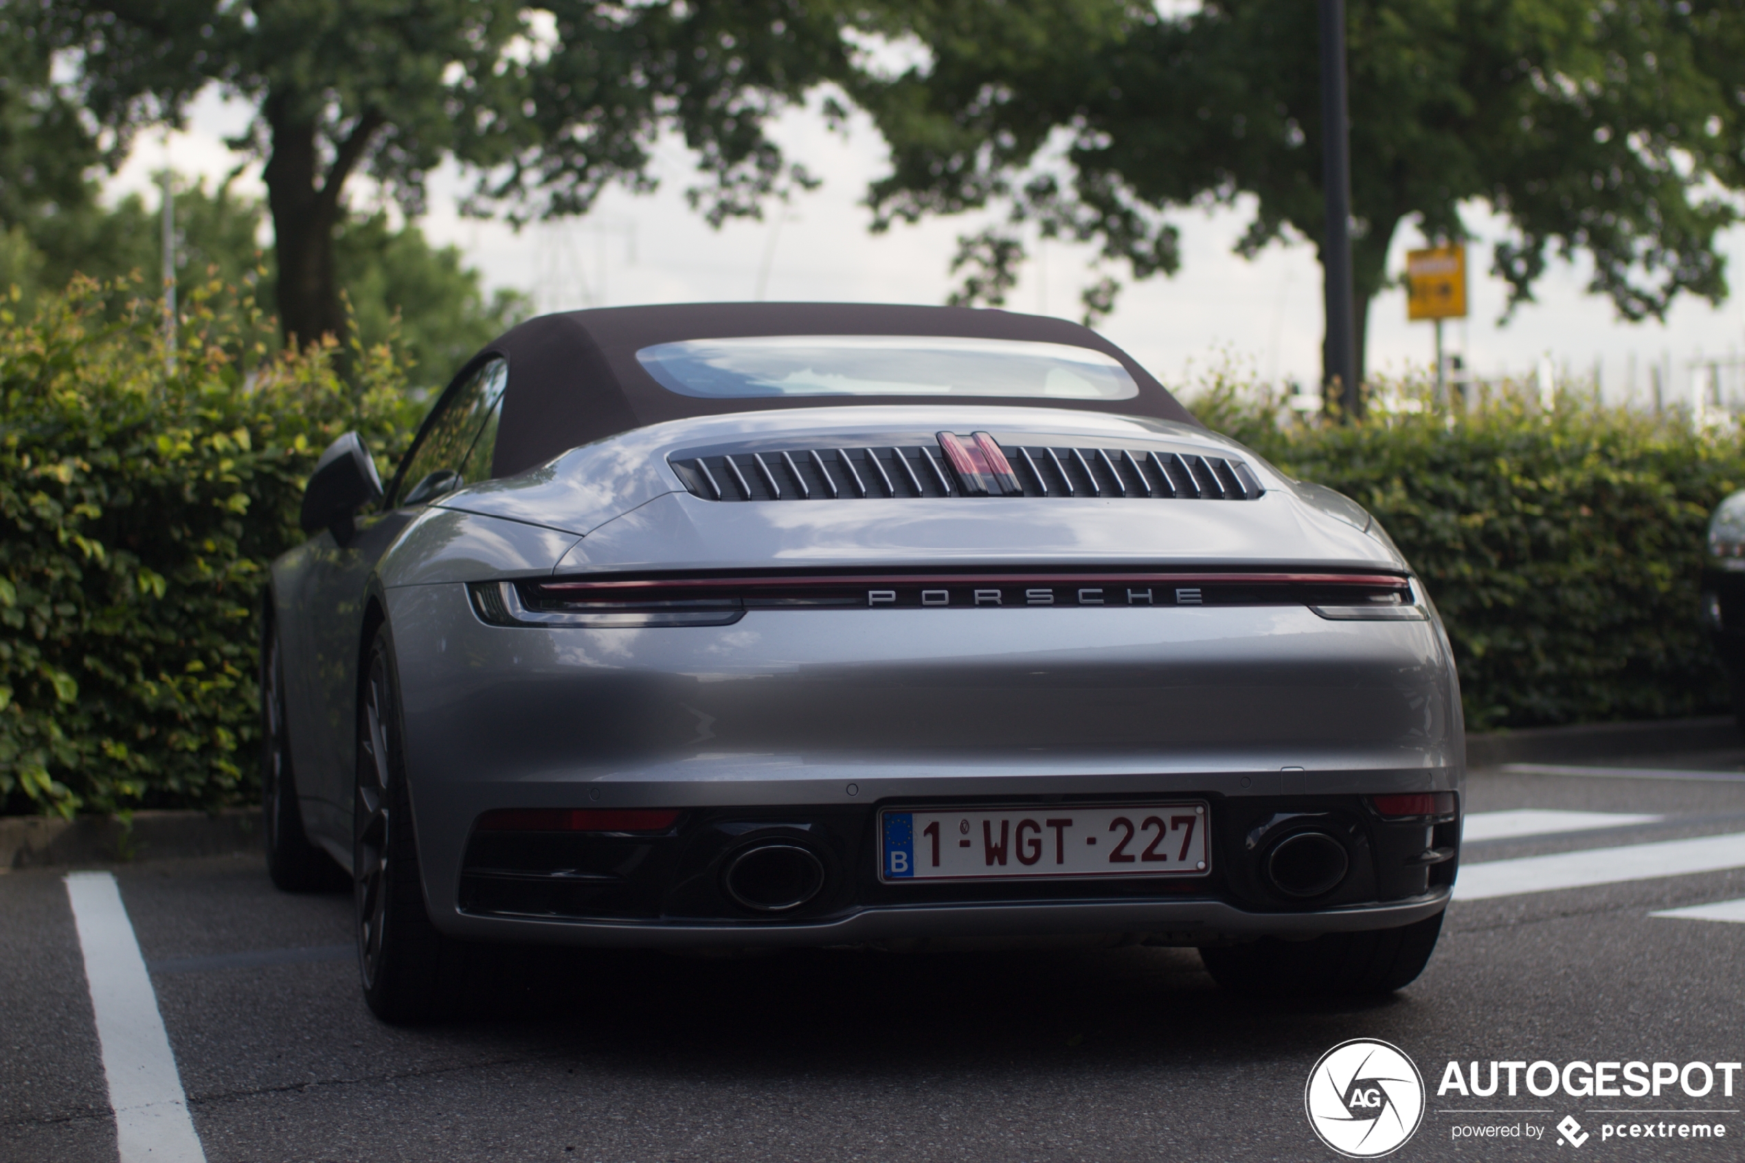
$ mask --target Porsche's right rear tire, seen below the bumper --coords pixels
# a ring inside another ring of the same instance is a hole
[[[1263,936],[1246,945],[1201,949],[1220,987],[1256,997],[1391,994],[1417,980],[1436,949],[1441,917],[1398,929],[1326,933],[1312,942]]]

